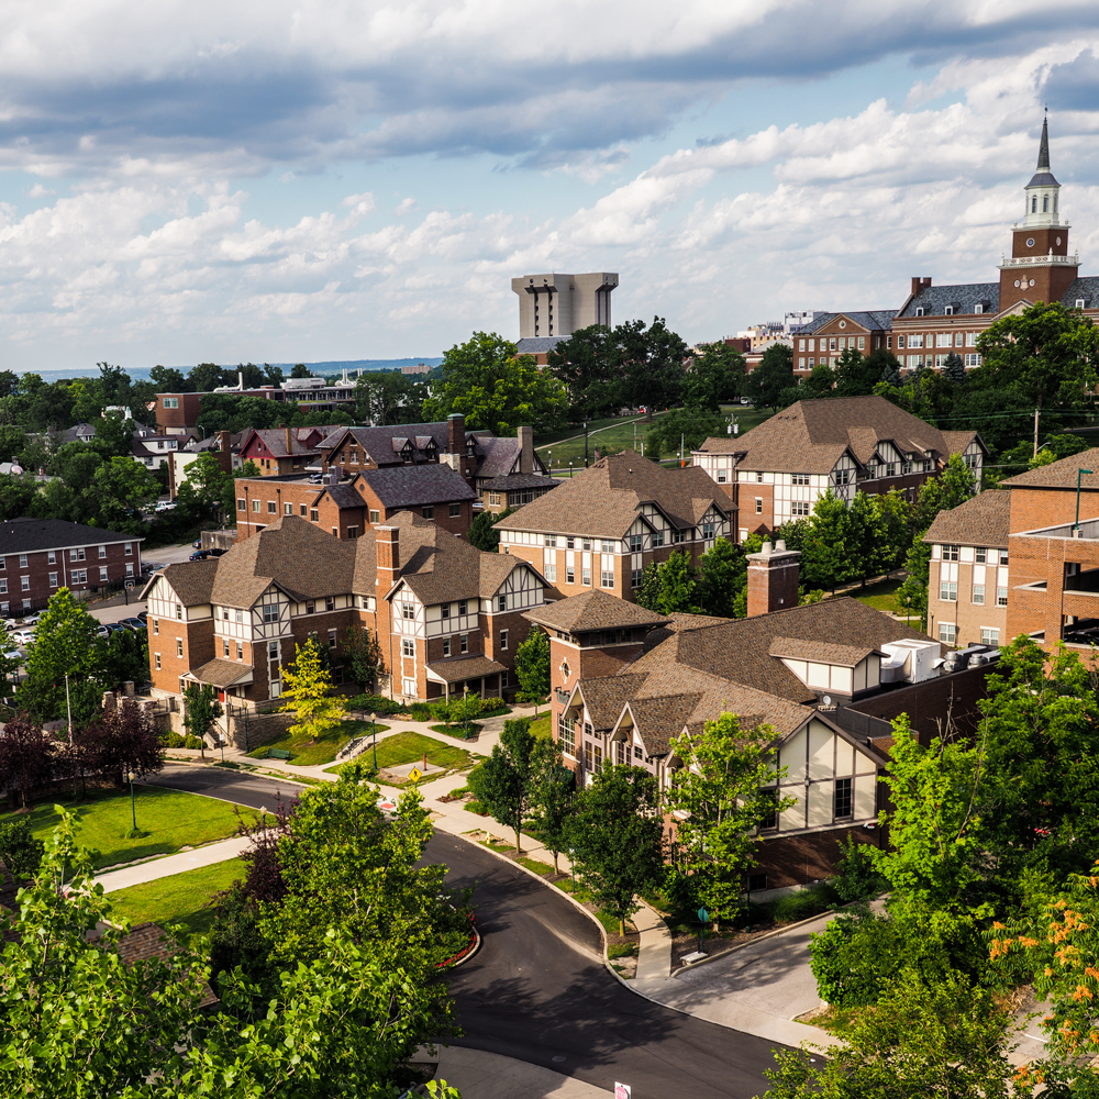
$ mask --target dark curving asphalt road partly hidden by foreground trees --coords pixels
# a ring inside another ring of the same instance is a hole
[[[274,806],[292,784],[220,768],[166,766],[155,785]],[[595,923],[568,900],[484,847],[436,832],[428,857],[454,887],[475,886],[478,954],[452,977],[465,1034],[454,1044],[503,1054],[636,1099],[752,1099],[767,1087],[775,1043],[653,1003],[600,959]]]

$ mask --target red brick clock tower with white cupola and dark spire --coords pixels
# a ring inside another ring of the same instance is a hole
[[[1000,311],[1018,301],[1059,301],[1080,257],[1068,254],[1068,222],[1061,220],[1061,184],[1050,170],[1050,119],[1042,122],[1037,169],[1023,188],[1023,220],[1011,230],[1011,257],[1000,264]]]

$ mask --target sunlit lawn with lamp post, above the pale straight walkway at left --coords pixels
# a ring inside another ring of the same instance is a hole
[[[80,818],[78,841],[98,854],[96,868],[130,863],[149,855],[170,855],[181,847],[198,847],[214,840],[225,840],[236,832],[237,819],[227,801],[203,798],[160,786],[134,786],[137,828],[145,833],[126,839],[133,826],[130,790],[99,791],[86,802],[63,802]],[[10,815],[0,821],[11,820]],[[59,823],[52,804],[40,806],[30,814],[31,831],[48,840]]]

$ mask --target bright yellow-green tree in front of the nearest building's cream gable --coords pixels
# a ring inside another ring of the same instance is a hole
[[[768,817],[797,803],[777,797],[785,771],[776,773],[770,758],[775,736],[769,725],[744,730],[736,714],[723,713],[701,733],[671,740],[682,767],[671,776],[665,806],[688,814],[676,842],[695,896],[715,925],[740,910],[744,875],[755,865],[755,833]]]

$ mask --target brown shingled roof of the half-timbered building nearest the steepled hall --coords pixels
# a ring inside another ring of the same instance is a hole
[[[943,432],[884,397],[833,397],[798,401],[733,439],[708,439],[699,452],[743,453],[737,467],[780,473],[830,473],[844,452],[865,466],[879,443],[944,460],[964,451],[976,432]]]

